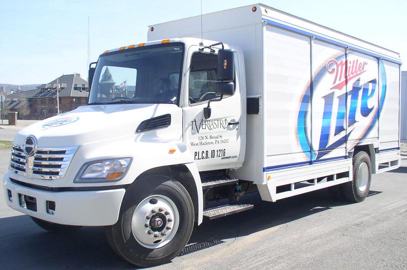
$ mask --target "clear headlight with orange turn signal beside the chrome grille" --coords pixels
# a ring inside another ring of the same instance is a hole
[[[129,169],[131,157],[99,160],[82,166],[74,182],[110,182],[122,179]]]

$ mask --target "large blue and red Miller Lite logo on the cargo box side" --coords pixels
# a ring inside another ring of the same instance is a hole
[[[345,158],[346,141],[349,151],[363,138],[377,138],[386,93],[382,63],[370,56],[341,54],[314,74],[297,117],[298,142],[307,157]]]

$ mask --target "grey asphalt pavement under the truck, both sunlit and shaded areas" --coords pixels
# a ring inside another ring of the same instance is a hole
[[[10,151],[0,149],[0,177]],[[368,197],[347,203],[327,190],[255,202],[252,210],[204,220],[172,262],[157,269],[406,269],[407,160],[372,176]],[[132,269],[105,240],[103,227],[52,234],[6,206],[0,194],[3,269]]]

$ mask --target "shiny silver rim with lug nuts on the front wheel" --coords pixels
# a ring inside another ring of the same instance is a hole
[[[134,238],[147,248],[166,245],[175,236],[178,225],[178,208],[172,199],[164,195],[151,195],[142,200],[131,220]]]

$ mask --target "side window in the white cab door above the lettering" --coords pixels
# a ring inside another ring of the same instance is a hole
[[[212,53],[195,52],[192,54],[189,73],[189,102],[197,103],[216,98],[218,56]]]

